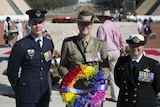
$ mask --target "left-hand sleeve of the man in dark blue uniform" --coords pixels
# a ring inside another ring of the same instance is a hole
[[[9,57],[7,67],[7,76],[13,90],[18,80],[18,73],[21,67],[23,57],[24,53],[22,47],[19,45],[19,43],[15,43],[12,49],[12,53]]]

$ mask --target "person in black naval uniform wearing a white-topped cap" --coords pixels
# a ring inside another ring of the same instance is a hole
[[[143,54],[143,35],[132,34],[126,42],[130,55],[119,57],[114,69],[115,83],[120,88],[117,107],[156,107],[160,63]]]

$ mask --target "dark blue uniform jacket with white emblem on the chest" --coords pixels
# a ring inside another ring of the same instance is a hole
[[[53,52],[53,49],[53,42],[46,37],[43,37],[43,47],[40,48],[31,34],[15,43],[9,57],[7,75],[18,101],[37,103],[48,91],[51,60],[46,61],[44,53]]]

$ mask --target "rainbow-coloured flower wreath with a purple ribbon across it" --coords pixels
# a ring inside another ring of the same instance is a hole
[[[79,79],[89,81],[91,88],[75,89]],[[97,107],[102,104],[107,90],[106,77],[102,70],[91,66],[80,66],[72,69],[61,82],[60,93],[63,102],[69,107]]]

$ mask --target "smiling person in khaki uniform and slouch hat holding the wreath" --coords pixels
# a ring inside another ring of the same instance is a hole
[[[81,65],[93,66],[97,70],[102,69],[109,75],[108,66],[106,66],[108,60],[105,42],[93,37],[90,33],[93,26],[93,16],[93,13],[89,10],[81,11],[76,20],[79,34],[64,39],[61,49],[60,67],[58,70],[62,78],[71,69]],[[97,54],[96,58],[93,58],[95,56],[94,54]],[[88,61],[87,59],[99,60]],[[82,83],[77,83],[75,88],[86,89],[84,81],[82,81]]]

